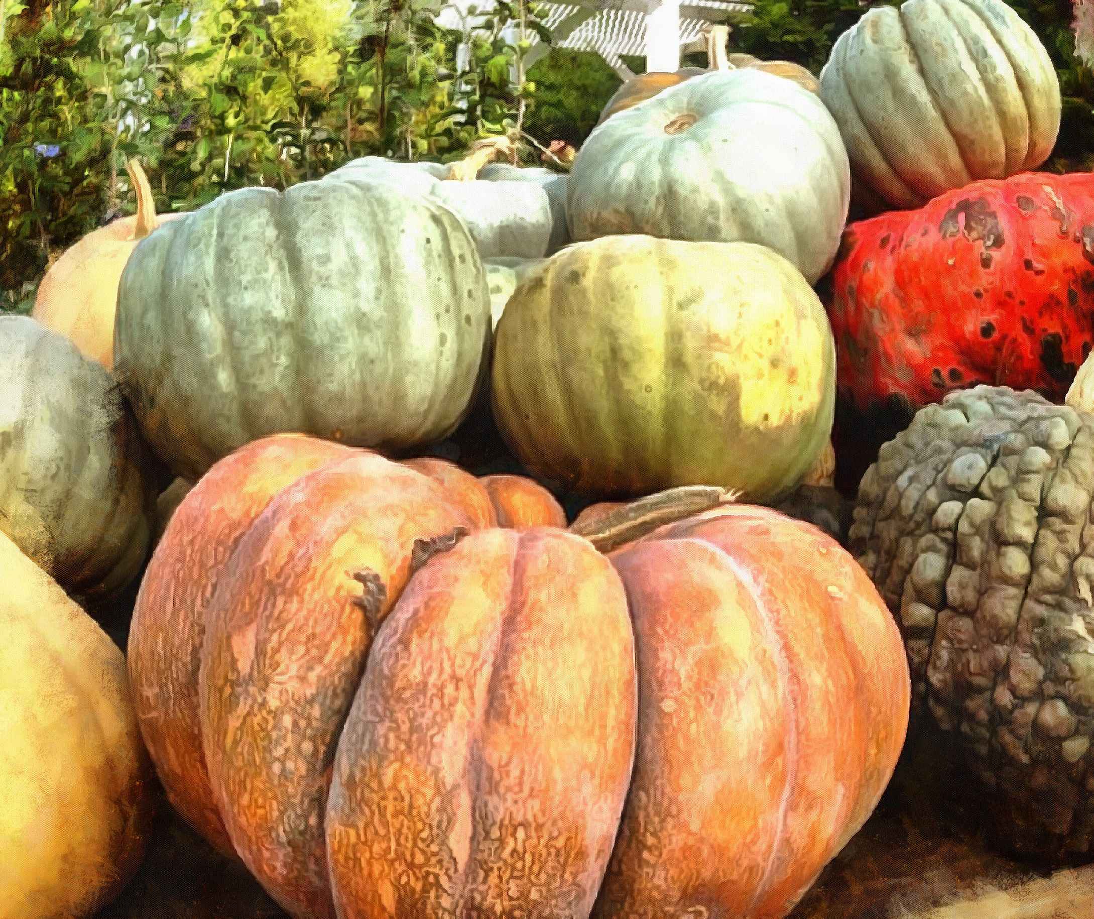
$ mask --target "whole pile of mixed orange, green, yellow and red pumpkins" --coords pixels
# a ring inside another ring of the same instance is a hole
[[[1004,845],[1089,852],[1047,53],[1000,0],[871,10],[819,80],[725,38],[569,175],[496,138],[160,217],[131,163],[0,318],[2,919],[107,903],[156,782],[298,917],[785,916],[909,712]],[[512,472],[442,458],[487,428]],[[775,509],[833,442],[851,551]],[[138,579],[123,656],[74,601]]]

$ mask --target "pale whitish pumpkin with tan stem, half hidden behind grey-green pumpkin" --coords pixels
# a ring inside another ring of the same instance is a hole
[[[381,178],[432,195],[467,224],[482,258],[542,258],[566,245],[565,175],[544,168],[490,164],[513,155],[508,137],[473,144],[461,161],[396,162],[383,156],[351,160],[331,175]]]

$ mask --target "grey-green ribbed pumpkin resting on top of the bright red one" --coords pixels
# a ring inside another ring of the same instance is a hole
[[[1002,0],[908,0],[845,32],[821,97],[856,177],[897,208],[1048,159],[1060,85],[1036,33]]]

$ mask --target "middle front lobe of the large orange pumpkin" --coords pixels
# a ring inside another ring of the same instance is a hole
[[[587,917],[637,702],[627,598],[589,543],[490,530],[430,560],[373,648],[335,756],[338,915]]]

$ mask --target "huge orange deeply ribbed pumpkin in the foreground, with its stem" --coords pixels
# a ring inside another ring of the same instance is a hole
[[[771,510],[671,522],[719,489],[505,531],[441,472],[282,435],[182,502],[129,658],[171,800],[294,916],[788,911],[907,726],[864,572]]]

